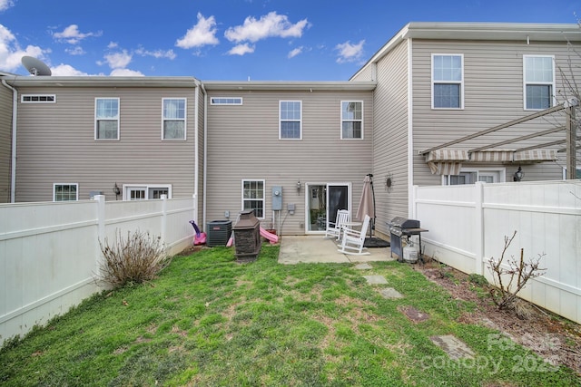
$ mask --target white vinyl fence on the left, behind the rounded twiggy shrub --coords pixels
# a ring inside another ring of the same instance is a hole
[[[102,290],[99,241],[149,232],[174,255],[192,245],[194,198],[0,205],[0,345]]]

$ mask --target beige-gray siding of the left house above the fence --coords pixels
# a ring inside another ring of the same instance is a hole
[[[113,184],[171,184],[192,198],[195,89],[21,88],[54,93],[56,103],[19,103],[17,201],[53,199],[54,183],[78,183],[79,199]],[[120,140],[94,140],[94,100],[120,99]],[[162,98],[187,98],[187,140],[161,140]],[[120,198],[121,199],[121,198]]]

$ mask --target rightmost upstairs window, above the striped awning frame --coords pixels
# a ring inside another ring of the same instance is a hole
[[[525,110],[543,110],[553,106],[555,58],[523,55]]]

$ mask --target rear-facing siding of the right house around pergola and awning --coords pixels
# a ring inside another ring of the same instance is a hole
[[[464,110],[431,109],[431,54],[464,54]],[[419,150],[427,150],[449,140],[459,139],[477,131],[492,128],[507,121],[527,116],[535,111],[525,111],[523,106],[523,55],[555,55],[556,91],[564,91],[558,66],[566,65],[569,57],[578,71],[580,58],[567,52],[566,43],[522,42],[450,42],[450,41],[413,41],[413,132],[414,132],[414,184],[441,184],[439,175],[432,175]],[[569,56],[571,54],[571,56]],[[581,73],[577,73],[578,78]],[[564,100],[557,94],[557,102]],[[532,131],[542,131],[563,124],[564,113],[555,113],[551,118],[537,119],[503,129],[496,133],[469,140],[456,149],[472,149],[501,140],[507,140]],[[539,140],[562,140],[565,132],[543,136],[542,139],[507,144],[502,148],[517,149],[538,143]],[[558,147],[557,147],[558,148]],[[512,180],[516,165],[487,164],[487,167],[507,168],[507,181]],[[562,165],[565,154],[559,162],[528,164],[526,179],[562,179]],[[477,164],[464,163],[463,167],[478,167]]]

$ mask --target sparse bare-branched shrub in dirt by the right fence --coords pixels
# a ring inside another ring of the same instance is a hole
[[[502,266],[507,249],[516,235],[517,231],[513,233],[512,237],[505,237],[505,247],[500,258],[495,259],[492,257],[488,262],[488,269],[496,286],[490,288],[490,295],[492,295],[492,300],[498,306],[498,309],[514,308],[517,293],[527,285],[527,281],[544,275],[547,270],[546,268],[538,267],[545,253],[539,254],[536,259],[530,258],[528,262],[525,262],[523,248],[520,249],[520,259],[517,260],[514,256],[511,256],[510,259],[507,259],[508,267]]]

